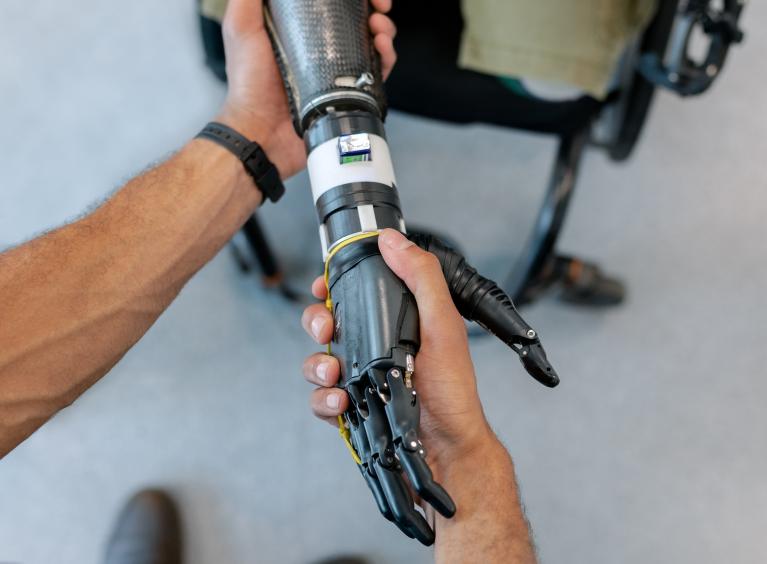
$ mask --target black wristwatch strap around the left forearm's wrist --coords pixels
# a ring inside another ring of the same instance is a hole
[[[285,186],[280,180],[277,167],[272,164],[258,143],[248,140],[231,127],[216,122],[206,125],[197,137],[218,143],[240,159],[245,170],[253,177],[256,188],[261,190],[264,199],[276,202],[285,194]]]

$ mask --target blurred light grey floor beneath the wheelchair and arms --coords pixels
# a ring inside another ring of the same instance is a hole
[[[714,92],[662,96],[628,165],[588,155],[562,244],[631,293],[611,311],[526,310],[562,386],[473,343],[543,562],[767,560],[767,6],[746,19]],[[191,0],[4,0],[0,242],[76,217],[195,133],[223,96],[200,57]],[[411,222],[500,275],[552,142],[401,115],[389,132]],[[309,280],[306,177],[264,215]],[[428,562],[312,420],[298,316],[221,253],[108,377],[0,462],[0,561],[95,564],[120,503],[159,485],[183,506],[192,564]]]

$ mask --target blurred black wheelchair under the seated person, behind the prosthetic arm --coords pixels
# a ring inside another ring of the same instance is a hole
[[[457,66],[464,25],[459,0],[395,2],[390,15],[398,28],[398,62],[386,84],[390,108],[450,123],[491,124],[559,139],[536,222],[503,284],[517,305],[529,304],[554,288],[568,303],[593,307],[622,303],[623,282],[598,265],[558,249],[581,159],[591,146],[605,150],[615,162],[627,160],[641,138],[658,88],[680,96],[699,95],[710,88],[729,48],[743,39],[739,27],[743,7],[743,0],[661,0],[649,25],[622,55],[617,86],[604,101],[583,95],[551,102],[517,93],[498,77]],[[221,26],[200,15],[200,29],[207,66],[226,81]],[[694,53],[701,50],[701,41],[703,54]],[[429,72],[424,73],[424,68]],[[249,270],[256,264],[267,286],[296,299],[284,283],[279,261],[256,215],[244,225],[243,234],[250,251],[236,250],[241,268]]]

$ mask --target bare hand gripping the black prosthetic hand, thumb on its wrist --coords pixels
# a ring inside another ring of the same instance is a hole
[[[429,466],[439,478],[451,462],[489,443],[495,444],[497,439],[482,411],[463,320],[453,305],[436,257],[390,229],[381,233],[379,249],[418,304],[421,349],[414,382],[421,404],[419,437],[426,447]],[[312,293],[325,298],[322,278],[315,280]],[[333,319],[323,304],[309,306],[302,323],[318,343],[325,344],[332,338]],[[320,386],[311,399],[315,415],[337,424],[337,416],[349,407],[346,392],[333,387],[340,378],[338,361],[325,354],[312,355],[304,363],[304,375]]]

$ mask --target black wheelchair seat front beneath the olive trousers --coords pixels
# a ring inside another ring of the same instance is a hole
[[[462,68],[459,0],[395,2],[391,16],[398,28],[398,62],[386,88],[394,109],[455,123],[568,134],[582,129],[601,107],[580,88],[566,86],[564,96],[561,89],[552,96],[550,86],[544,90],[503,72]]]

